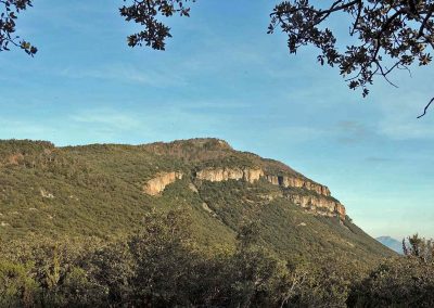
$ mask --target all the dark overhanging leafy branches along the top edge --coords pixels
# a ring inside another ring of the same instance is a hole
[[[34,55],[36,47],[16,37],[15,22],[21,11],[31,7],[33,0],[0,0],[0,51],[9,46],[22,48]],[[195,0],[124,0],[120,15],[127,22],[143,27],[128,36],[128,46],[146,46],[165,50],[170,28],[163,23],[174,15],[189,16],[189,5]],[[427,65],[434,48],[434,1],[432,0],[291,0],[278,3],[270,13],[268,33],[280,29],[288,36],[290,53],[303,46],[319,49],[321,65],[336,66],[350,89],[369,93],[375,76],[391,85],[390,75],[396,69]],[[335,30],[329,28],[330,18],[339,16],[348,27],[354,43],[342,46]],[[396,87],[396,86],[395,86]],[[426,105],[426,108],[434,98]],[[419,117],[421,117],[419,116]]]

